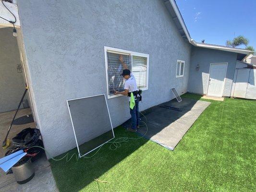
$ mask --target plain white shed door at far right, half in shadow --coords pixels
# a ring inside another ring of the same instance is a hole
[[[236,75],[234,95],[235,97],[245,98],[248,86],[250,69],[238,69]]]

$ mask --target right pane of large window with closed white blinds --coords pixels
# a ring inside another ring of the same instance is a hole
[[[146,78],[147,78],[146,59],[147,59],[146,57],[133,56],[132,72],[136,79],[137,86],[140,89],[146,87]]]

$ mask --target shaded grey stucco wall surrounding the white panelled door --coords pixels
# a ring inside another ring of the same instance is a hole
[[[193,47],[190,60],[188,91],[196,94],[207,94],[210,63],[228,62],[223,96],[231,96],[237,53]],[[196,70],[197,64],[199,70]]]

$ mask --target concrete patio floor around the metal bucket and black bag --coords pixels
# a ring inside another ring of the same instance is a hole
[[[2,144],[6,136],[14,113],[15,111],[0,113],[0,144]],[[16,118],[29,114],[31,114],[30,108],[20,109]],[[8,138],[12,139],[12,137],[27,127],[35,128],[36,126],[34,122],[24,125],[13,125]],[[3,157],[7,150],[8,148],[2,149],[2,147],[0,147],[0,157]],[[35,177],[22,185],[16,182],[13,174],[6,175],[6,173],[0,169],[0,192],[58,192],[46,156],[44,155],[33,162],[33,167],[35,168]]]

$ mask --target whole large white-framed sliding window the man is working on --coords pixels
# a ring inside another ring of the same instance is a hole
[[[117,48],[105,47],[105,63],[108,98],[113,98],[121,95],[114,95],[114,91],[124,91],[124,79],[120,74],[123,67],[119,60],[122,54],[123,61],[133,73],[139,89],[147,90],[148,87],[148,55],[136,53]]]

